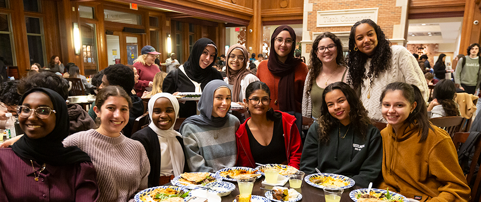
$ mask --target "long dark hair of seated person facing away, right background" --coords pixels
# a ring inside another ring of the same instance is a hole
[[[458,106],[454,102],[456,87],[454,83],[447,79],[441,79],[434,86],[433,96],[437,102],[443,106],[447,116],[461,116]]]

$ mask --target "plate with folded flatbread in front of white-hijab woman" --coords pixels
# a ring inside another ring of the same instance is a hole
[[[172,179],[172,184],[186,189],[199,189],[210,182],[221,181],[218,175],[207,172],[182,173]]]

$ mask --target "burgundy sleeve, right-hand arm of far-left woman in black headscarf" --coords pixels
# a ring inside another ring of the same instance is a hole
[[[94,165],[84,162],[78,167],[75,179],[75,201],[97,201],[100,191]]]

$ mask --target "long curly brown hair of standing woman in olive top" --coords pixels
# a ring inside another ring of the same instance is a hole
[[[334,44],[336,44],[336,51],[337,51],[337,57],[336,57],[336,64],[341,65],[341,66],[346,66],[346,62],[344,60],[344,55],[342,53],[342,43],[341,39],[337,37],[335,34],[331,32],[324,32],[323,34],[319,34],[314,42],[312,43],[312,49],[311,53],[309,55],[310,57],[310,65],[309,69],[312,69],[311,74],[309,75],[309,83],[311,85],[307,86],[307,91],[310,92],[312,89],[312,83],[315,82],[315,79],[317,76],[320,74],[320,70],[323,68],[323,63],[317,58],[317,46],[319,45],[319,41],[322,40],[323,38],[330,38],[334,41]]]

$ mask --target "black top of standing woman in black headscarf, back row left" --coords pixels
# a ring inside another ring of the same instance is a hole
[[[217,73],[216,75],[213,75],[211,77],[213,78],[212,80],[214,79],[223,80],[220,72],[217,70],[215,72]],[[206,87],[209,81],[201,83],[202,90],[204,90],[204,87]],[[190,79],[180,69],[172,70],[171,72],[169,72],[169,74],[167,74],[166,78],[164,79],[164,83],[162,84],[162,88],[163,88],[162,89],[163,92],[168,92],[171,94],[174,92],[194,92],[195,91],[195,86],[192,83],[192,81],[190,81]],[[184,104],[179,103],[179,117],[188,118],[190,116],[196,115],[197,114],[196,108],[197,108],[197,104],[195,103],[195,101],[186,101]]]

